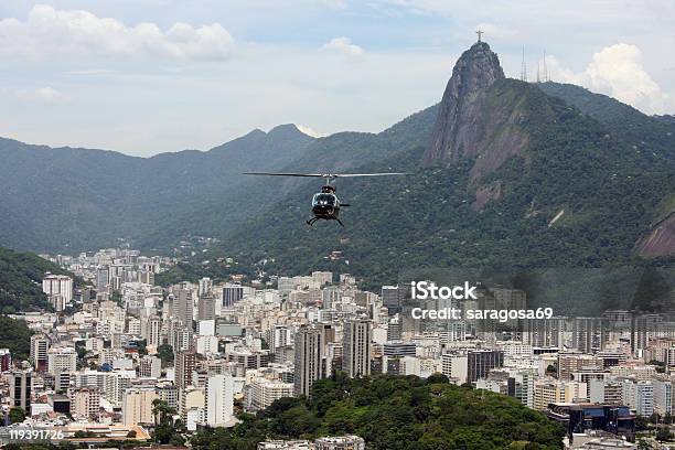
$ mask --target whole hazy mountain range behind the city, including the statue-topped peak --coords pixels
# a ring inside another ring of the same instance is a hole
[[[486,43],[439,105],[379,133],[287,125],[143,159],[0,140],[0,244],[167,249],[190,236],[279,272],[392,278],[409,266],[598,266],[675,256],[675,121],[556,83],[507,79]],[[244,171],[414,172],[341,180],[345,228],[308,228],[314,180]],[[328,255],[342,251],[342,259]],[[345,268],[349,260],[349,268]],[[652,262],[650,262],[652,264]]]

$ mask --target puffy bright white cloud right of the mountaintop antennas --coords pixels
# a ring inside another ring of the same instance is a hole
[[[669,103],[645,71],[642,52],[635,45],[619,43],[602,49],[581,73],[562,67],[553,56],[546,58],[546,64],[554,81],[582,85],[649,114],[666,111]]]

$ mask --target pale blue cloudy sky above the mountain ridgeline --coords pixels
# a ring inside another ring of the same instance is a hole
[[[379,131],[440,99],[476,28],[518,76],[675,113],[669,0],[0,2],[0,136],[150,156],[253,128]]]

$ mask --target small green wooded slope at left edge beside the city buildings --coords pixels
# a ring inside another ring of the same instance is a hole
[[[0,313],[50,309],[42,292],[42,278],[47,271],[72,275],[35,254],[0,247]]]

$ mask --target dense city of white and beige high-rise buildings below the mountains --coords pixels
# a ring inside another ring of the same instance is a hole
[[[178,259],[115,248],[42,257],[76,282],[47,272],[42,289],[54,312],[11,314],[34,334],[28,361],[0,349],[0,398],[7,394],[10,410],[25,411],[24,425],[55,427],[65,439],[109,419],[108,437],[130,438],[135,430],[131,439],[161,441],[164,419],[158,422],[157,408],[184,422],[183,431],[171,431],[176,439],[203,426],[232,430],[244,411],[323,395],[325,384],[313,389],[320,381],[371,383],[382,375],[471,386],[481,398],[513,397],[568,425],[567,438],[575,433],[575,440],[632,442],[636,418],[672,420],[675,408],[671,310],[560,311],[500,321],[500,328],[496,320],[470,317],[417,320],[410,312],[416,304],[438,308],[443,300],[410,298],[409,283],[367,291],[343,272],[158,283],[154,277]],[[71,299],[66,308],[64,298]],[[452,304],[523,310],[528,301],[525,290],[481,283],[475,296]],[[275,403],[285,397],[296,400]],[[602,419],[581,424],[576,410]],[[50,413],[69,413],[78,422],[65,416],[55,421]],[[268,439],[257,449],[338,450],[336,442],[363,444],[364,437]],[[2,439],[8,436],[0,432]]]

